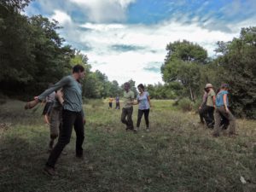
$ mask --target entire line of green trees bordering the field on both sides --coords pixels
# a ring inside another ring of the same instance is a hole
[[[0,2],[0,86],[3,95],[27,99],[71,73],[73,65],[84,64],[82,82],[86,98],[122,95],[123,84],[109,81],[100,72],[92,72],[88,57],[65,43],[57,32],[56,20],[42,15],[20,14],[31,0]],[[242,28],[230,42],[217,43],[216,56],[187,40],[166,45],[166,59],[161,67],[165,84],[148,84],[155,99],[189,98],[201,100],[204,85],[230,84],[230,103],[236,115],[256,119],[256,27]],[[130,80],[137,92],[136,82]]]

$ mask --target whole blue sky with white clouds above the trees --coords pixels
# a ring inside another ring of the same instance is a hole
[[[66,44],[119,84],[162,83],[166,44],[186,39],[215,56],[218,41],[255,26],[256,0],[36,0],[25,14],[57,20]]]

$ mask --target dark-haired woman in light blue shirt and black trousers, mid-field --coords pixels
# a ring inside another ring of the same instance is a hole
[[[149,116],[149,108],[151,107],[150,96],[149,96],[149,93],[147,91],[145,91],[143,84],[137,85],[137,89],[139,91],[139,94],[137,96],[137,101],[132,103],[133,105],[138,104],[137,127],[134,131],[138,131],[140,124],[141,124],[141,120],[143,118],[143,114],[144,114],[144,119],[146,122],[146,131],[149,131],[148,116]]]

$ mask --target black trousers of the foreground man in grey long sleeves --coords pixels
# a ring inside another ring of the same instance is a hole
[[[76,154],[78,156],[83,155],[83,143],[84,143],[84,122],[81,112],[73,112],[69,110],[62,111],[62,129],[58,139],[58,143],[49,154],[49,159],[46,165],[55,167],[55,163],[58,160],[63,148],[70,142],[70,137],[73,131],[76,131]]]

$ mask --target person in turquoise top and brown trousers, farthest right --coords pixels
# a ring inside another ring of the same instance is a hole
[[[221,126],[221,119],[224,117],[225,119],[228,119],[229,121],[229,135],[236,135],[236,119],[234,115],[230,112],[229,109],[229,98],[228,98],[228,92],[229,90],[229,84],[222,84],[221,89],[218,92],[217,98],[216,98],[216,110],[215,110],[215,125],[213,130],[213,137],[218,137],[219,132],[222,129]]]

